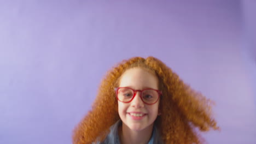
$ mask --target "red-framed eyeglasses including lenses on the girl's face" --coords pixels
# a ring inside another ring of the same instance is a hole
[[[117,99],[123,103],[130,103],[137,92],[140,92],[139,97],[141,97],[143,103],[148,105],[155,104],[158,101],[160,95],[162,94],[161,91],[153,88],[146,88],[142,90],[135,90],[130,87],[115,88]]]

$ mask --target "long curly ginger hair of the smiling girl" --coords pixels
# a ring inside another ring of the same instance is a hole
[[[118,101],[114,88],[119,85],[119,77],[133,67],[152,71],[159,80],[159,111],[155,120],[164,143],[205,143],[199,131],[218,130],[212,117],[212,101],[186,85],[171,68],[155,57],[133,57],[109,70],[101,82],[92,109],[75,127],[73,143],[84,144],[103,141],[109,128],[120,119]]]

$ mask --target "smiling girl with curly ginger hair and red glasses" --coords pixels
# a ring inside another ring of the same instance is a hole
[[[73,143],[203,143],[197,128],[218,129],[211,101],[159,59],[133,57],[103,79]]]

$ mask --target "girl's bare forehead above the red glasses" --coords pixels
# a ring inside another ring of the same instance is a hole
[[[136,89],[158,89],[158,78],[143,68],[127,69],[120,77],[119,87],[131,87]]]

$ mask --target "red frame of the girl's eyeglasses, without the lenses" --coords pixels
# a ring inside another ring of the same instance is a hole
[[[130,101],[125,102],[125,101],[121,101],[121,100],[118,99],[118,90],[119,90],[120,88],[128,88],[128,89],[131,89],[131,90],[133,91],[133,96],[132,96],[132,98],[131,98]],[[158,92],[158,99],[157,99],[154,103],[152,103],[152,104],[146,103],[146,102],[143,100],[143,98],[142,98],[142,92],[143,92],[143,91],[146,91],[146,90],[148,90],[148,89],[151,89],[151,90],[154,90],[154,91]],[[161,91],[159,91],[158,89],[153,89],[153,88],[146,88],[146,89],[142,89],[142,90],[138,90],[138,89],[137,89],[137,90],[136,90],[136,89],[132,89],[132,88],[130,88],[130,87],[115,87],[114,90],[115,90],[115,96],[116,96],[117,99],[118,99],[119,101],[121,101],[122,103],[130,103],[130,102],[135,98],[135,95],[137,94],[137,92],[140,92],[140,93],[139,93],[139,97],[141,98],[141,100],[143,101],[143,103],[144,103],[144,104],[147,104],[147,105],[153,105],[153,104],[155,104],[156,102],[158,102],[160,96],[162,95],[162,92],[161,92]]]

